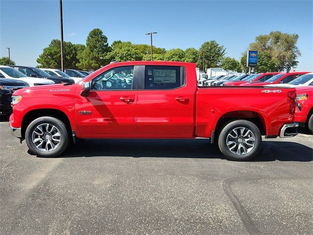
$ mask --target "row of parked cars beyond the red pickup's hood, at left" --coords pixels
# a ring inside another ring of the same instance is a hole
[[[0,66],[0,115],[12,112],[11,96],[21,88],[55,83],[76,83],[89,71],[39,69],[29,66]]]

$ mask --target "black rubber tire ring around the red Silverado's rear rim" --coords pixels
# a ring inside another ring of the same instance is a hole
[[[246,127],[254,135],[255,145],[253,149],[247,154],[236,155],[229,150],[226,144],[227,135],[229,134],[231,130],[237,127]],[[224,126],[219,136],[220,150],[222,151],[222,153],[227,159],[233,160],[233,161],[246,161],[246,160],[253,158],[259,152],[261,148],[261,143],[262,143],[262,136],[261,136],[259,128],[254,123],[250,121],[246,121],[246,120],[235,120],[235,121],[229,122],[228,124]]]

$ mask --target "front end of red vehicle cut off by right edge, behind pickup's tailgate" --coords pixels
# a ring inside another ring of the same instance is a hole
[[[307,126],[313,133],[313,86],[297,87],[297,107],[294,120],[299,126]]]

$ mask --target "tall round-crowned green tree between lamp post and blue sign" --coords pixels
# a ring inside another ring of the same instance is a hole
[[[214,68],[221,65],[226,48],[223,45],[218,44],[215,40],[205,42],[199,49],[199,62],[197,63],[199,68],[203,66],[203,54],[204,54],[204,67]]]

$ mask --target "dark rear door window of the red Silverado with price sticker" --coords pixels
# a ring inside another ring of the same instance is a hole
[[[181,86],[180,67],[146,66],[145,89],[167,90]]]

